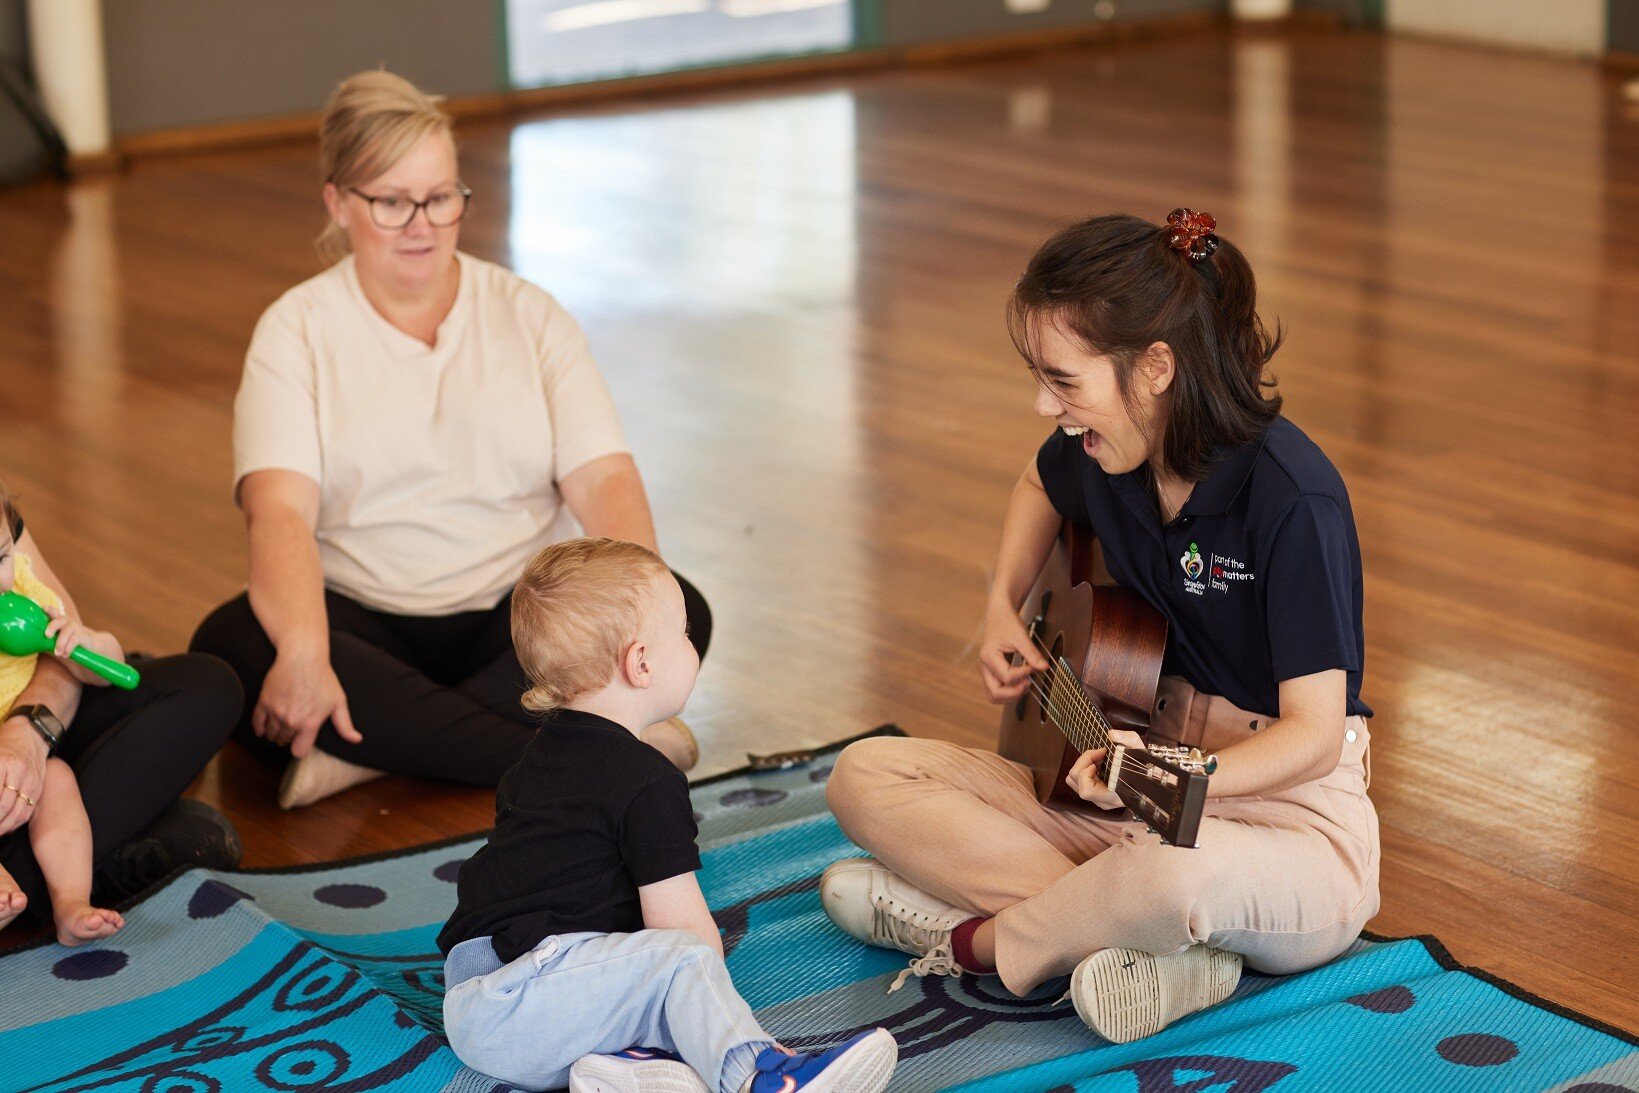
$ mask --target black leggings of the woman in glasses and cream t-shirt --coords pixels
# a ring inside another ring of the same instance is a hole
[[[711,610],[682,577],[688,636],[703,657]],[[518,705],[528,690],[511,646],[511,593],[488,611],[388,615],[325,590],[329,664],[347,695],[347,713],[364,737],[341,739],[326,721],[318,747],[392,773],[495,785],[518,762],[538,721]],[[251,611],[247,593],[216,608],[190,647],[233,665],[244,685],[244,714],[234,736],[269,759],[288,752],[251,731],[262,682],[274,667],[274,644]]]

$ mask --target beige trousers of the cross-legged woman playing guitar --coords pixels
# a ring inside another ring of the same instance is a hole
[[[1149,741],[1221,751],[1269,721],[1165,677]],[[1046,808],[1024,767],[944,741],[849,746],[828,800],[895,873],[997,919],[997,970],[1016,995],[1110,947],[1205,942],[1260,972],[1301,972],[1341,954],[1378,906],[1365,718],[1349,718],[1347,736],[1324,778],[1208,800],[1196,849],[1126,813]]]

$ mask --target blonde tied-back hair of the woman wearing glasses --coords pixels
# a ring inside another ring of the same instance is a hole
[[[370,70],[349,75],[325,103],[318,126],[318,162],[325,182],[346,190],[369,182],[403,159],[429,133],[449,133],[449,115],[438,108],[439,95],[428,95],[392,72]],[[328,221],[318,236],[318,252],[326,262],[347,254],[347,233]]]

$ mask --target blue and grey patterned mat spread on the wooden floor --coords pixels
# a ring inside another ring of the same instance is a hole
[[[1247,975],[1229,1003],[1129,1045],[1057,1006],[1062,982],[1021,1000],[995,980],[926,978],[890,996],[905,959],[839,934],[815,895],[829,862],[857,854],[826,813],[829,764],[697,787],[701,882],[764,1023],[793,1045],[890,1027],[895,1090],[1639,1090],[1639,1041],[1462,970],[1424,939]],[[116,937],[0,957],[0,1090],[510,1090],[462,1068],[438,1024],[433,937],[475,846],[195,870],[131,908]]]

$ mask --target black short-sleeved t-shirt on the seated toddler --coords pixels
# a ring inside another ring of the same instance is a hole
[[[638,888],[700,869],[688,782],[659,751],[559,710],[495,791],[490,841],[461,867],[449,952],[492,937],[515,960],[543,937],[642,929]]]

